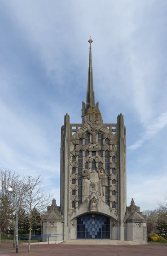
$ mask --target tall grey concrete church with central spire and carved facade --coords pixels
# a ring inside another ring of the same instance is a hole
[[[43,216],[43,234],[70,239],[114,239],[146,243],[146,220],[133,199],[127,207],[126,128],[103,123],[95,104],[92,53],[82,122],[64,117],[61,128],[60,207],[52,200]],[[55,239],[55,238],[54,238]]]

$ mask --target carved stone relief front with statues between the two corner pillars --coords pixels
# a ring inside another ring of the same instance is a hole
[[[78,207],[95,193],[112,208],[112,202],[117,202],[117,193],[111,201],[117,187],[117,140],[112,126],[107,128],[103,124],[96,107],[90,107],[85,121],[77,129],[78,126],[75,124],[71,128],[70,173],[75,171],[70,174],[70,188],[75,190],[75,196],[70,194],[71,204],[75,201],[75,207]],[[117,208],[117,203],[114,207]]]

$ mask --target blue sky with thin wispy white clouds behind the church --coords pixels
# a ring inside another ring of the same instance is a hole
[[[0,0],[0,167],[59,205],[60,129],[81,122],[89,44],[104,123],[124,115],[127,205],[167,193],[167,1]]]

